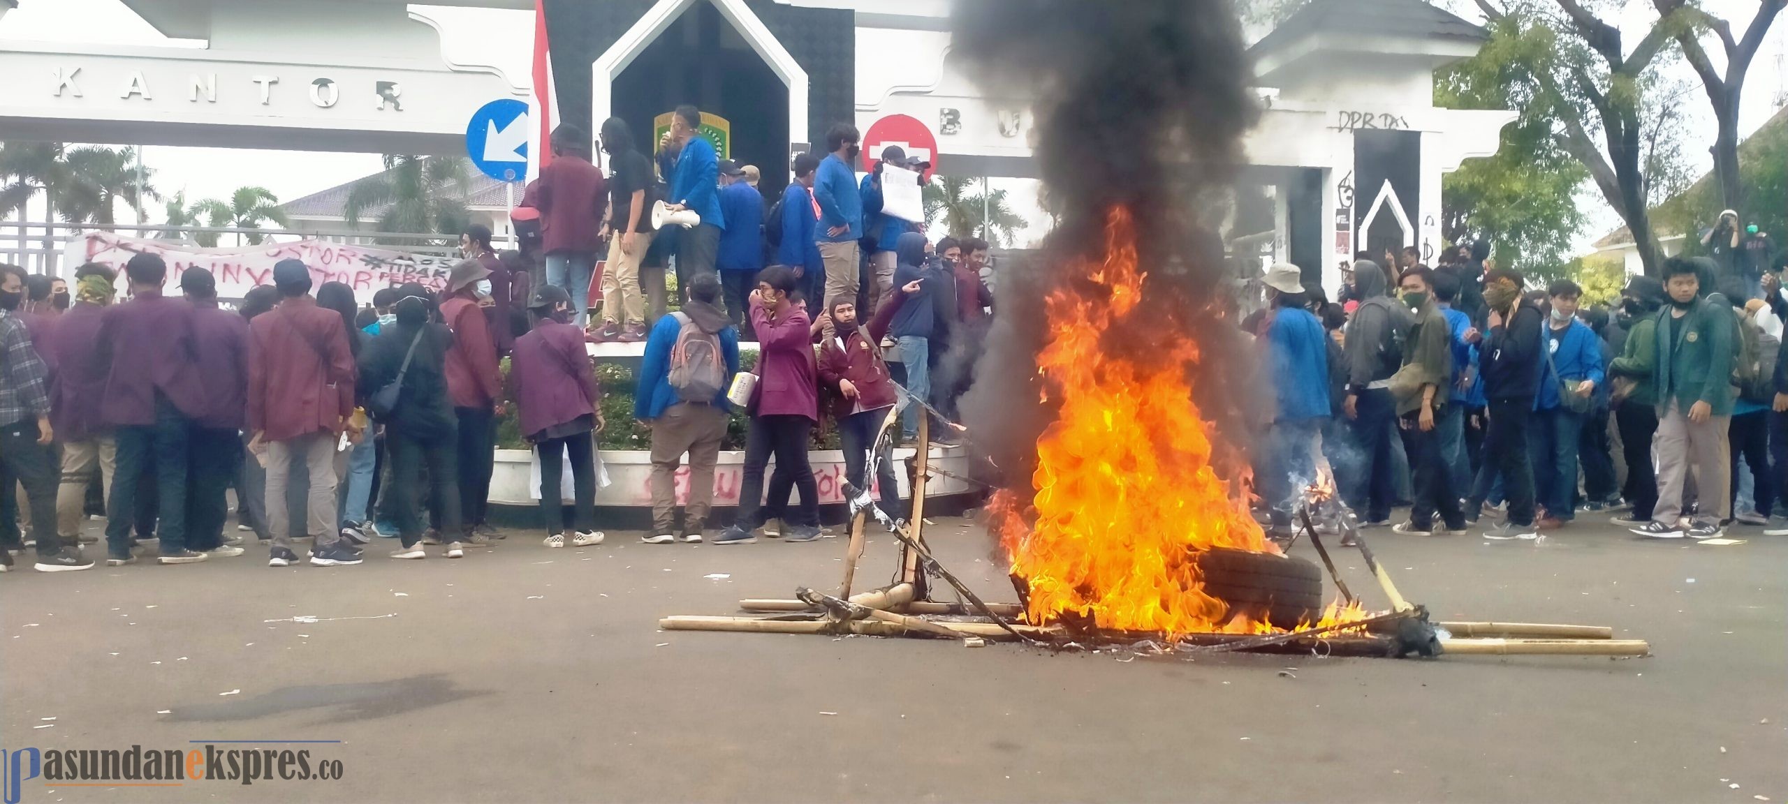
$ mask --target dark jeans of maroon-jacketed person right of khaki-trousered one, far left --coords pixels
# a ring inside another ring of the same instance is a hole
[[[111,557],[131,556],[131,523],[138,511],[141,475],[154,466],[161,516],[161,554],[190,550],[186,543],[186,463],[191,423],[159,393],[156,423],[118,427],[118,477],[105,500],[105,549]],[[41,538],[41,536],[39,536]]]

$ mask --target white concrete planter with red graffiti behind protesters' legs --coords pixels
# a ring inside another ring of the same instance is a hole
[[[608,468],[610,484],[595,491],[595,504],[603,507],[651,507],[651,454],[645,450],[601,450],[603,465]],[[898,463],[894,477],[899,481],[901,498],[910,498],[912,490],[907,488],[905,459],[912,457],[912,448],[896,448],[894,461]],[[535,481],[536,472],[533,470],[533,452],[529,450],[497,450],[497,463],[490,477],[490,502],[504,506],[535,506],[538,502],[538,481]],[[833,506],[844,502],[844,454],[839,450],[815,450],[808,454],[808,461],[814,466],[814,481],[819,484],[819,502],[821,506]],[[932,447],[932,465],[955,473],[969,473],[967,452],[962,447]],[[771,461],[771,472],[774,472],[776,463]],[[746,473],[746,454],[744,452],[721,452],[721,461],[713,472],[713,506],[715,507],[735,507],[738,506],[738,486]],[[765,486],[769,484],[769,473],[765,473]],[[955,477],[933,475],[930,482],[930,497],[953,497],[966,495],[973,491],[967,482]],[[688,465],[683,465],[676,472],[676,497],[678,504],[688,498]]]

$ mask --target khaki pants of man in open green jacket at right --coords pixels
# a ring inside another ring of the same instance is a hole
[[[1706,422],[1688,420],[1675,402],[1657,420],[1657,438],[1652,452],[1657,456],[1657,507],[1652,520],[1675,525],[1683,518],[1683,486],[1690,466],[1695,468],[1695,491],[1700,515],[1713,520],[1733,516],[1733,456],[1727,429],[1733,416],[1708,416]]]

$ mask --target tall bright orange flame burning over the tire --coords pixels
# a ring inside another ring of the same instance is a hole
[[[1194,561],[1212,547],[1278,552],[1248,515],[1244,479],[1232,486],[1212,468],[1212,427],[1187,379],[1198,343],[1168,322],[1151,325],[1169,339],[1148,359],[1101,348],[1101,332],[1135,327],[1148,279],[1126,209],[1110,211],[1105,257],[1085,268],[1080,288],[1096,289],[1046,298],[1037,372],[1060,409],[1037,441],[1033,500],[999,491],[992,502],[1012,574],[1030,586],[1030,622],[1069,613],[1168,636],[1271,631],[1230,618]]]

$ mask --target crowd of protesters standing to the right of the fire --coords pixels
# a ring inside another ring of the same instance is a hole
[[[1724,213],[1718,248],[1629,277],[1613,309],[1568,279],[1529,289],[1489,243],[1434,268],[1361,252],[1334,300],[1273,266],[1244,320],[1277,398],[1255,470],[1269,536],[1327,482],[1359,525],[1413,536],[1493,516],[1486,538],[1536,540],[1579,511],[1652,538],[1788,534],[1783,264],[1738,232]]]

